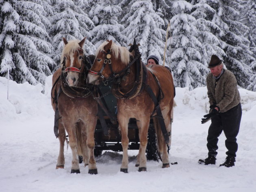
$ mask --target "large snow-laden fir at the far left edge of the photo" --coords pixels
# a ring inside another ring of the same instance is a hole
[[[1,73],[9,68],[16,82],[44,83],[56,64],[48,56],[52,47],[45,26],[50,23],[41,0],[4,2],[2,9],[6,19],[1,35],[5,36]]]

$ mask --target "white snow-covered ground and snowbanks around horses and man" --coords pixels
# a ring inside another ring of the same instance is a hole
[[[96,158],[98,175],[70,174],[71,150],[65,148],[65,168],[55,169],[59,140],[53,133],[50,104],[51,76],[42,85],[9,82],[0,77],[0,192],[255,192],[256,191],[256,93],[240,88],[243,116],[237,137],[239,150],[232,168],[219,167],[226,157],[225,136],[219,137],[216,165],[200,165],[207,154],[210,122],[206,87],[189,91],[176,88],[170,168],[148,161],[147,172],[135,167],[138,151],[130,150],[128,174],[119,172],[121,153],[105,151]]]

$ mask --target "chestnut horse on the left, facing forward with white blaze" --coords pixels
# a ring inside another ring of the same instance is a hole
[[[86,85],[88,59],[85,57],[83,45],[85,38],[67,42],[63,38],[64,47],[61,54],[61,68],[52,77],[52,107],[55,111],[56,126],[54,130],[59,137],[60,151],[56,164],[57,168],[64,168],[65,131],[69,137],[72,150],[71,173],[80,173],[78,155],[83,157],[85,167],[88,165],[90,174],[97,174],[94,158],[94,130],[97,122],[97,101],[93,99],[89,86]],[[87,61],[87,65],[85,64]],[[56,113],[57,112],[57,113]],[[59,115],[58,115],[59,113]]]

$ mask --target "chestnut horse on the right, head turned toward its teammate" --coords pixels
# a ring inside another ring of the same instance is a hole
[[[139,61],[137,65],[135,65],[135,60]],[[174,104],[174,81],[171,72],[161,65],[147,68],[141,62],[140,56],[135,55],[135,49],[130,52],[126,47],[121,47],[112,41],[105,41],[96,50],[95,60],[87,76],[87,83],[97,85],[103,81],[107,84],[111,80],[113,81],[112,93],[117,97],[117,119],[123,148],[120,171],[128,173],[128,122],[130,118],[137,120],[139,128],[140,147],[135,166],[139,167],[139,171],[147,170],[145,150],[150,118],[154,116],[162,167],[169,167],[167,153],[169,136],[166,134],[170,131],[171,110]],[[161,100],[160,104],[156,103],[156,97]],[[157,108],[162,116],[156,113]],[[165,133],[162,133],[161,126],[159,126],[161,119],[164,119],[162,127],[165,126]]]

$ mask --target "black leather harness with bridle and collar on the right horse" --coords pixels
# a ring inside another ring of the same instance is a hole
[[[161,86],[160,86],[160,83],[159,83],[158,79],[156,78],[156,76],[154,75],[154,73],[152,71],[150,71],[150,72],[154,76],[154,79],[157,82],[158,88],[159,88],[159,91],[160,91],[158,97],[156,97],[154,95],[154,92],[152,91],[152,88],[150,88],[150,86],[148,84],[146,84],[146,81],[147,81],[147,78],[148,78],[148,75],[147,75],[148,70],[147,70],[147,67],[145,67],[145,65],[141,62],[141,54],[139,52],[138,45],[137,45],[135,39],[134,39],[134,43],[130,47],[129,51],[132,52],[133,50],[135,51],[134,52],[135,53],[134,59],[123,70],[121,70],[119,72],[114,72],[113,71],[112,65],[111,65],[111,54],[110,54],[110,50],[108,50],[108,52],[105,52],[106,58],[104,60],[104,64],[102,65],[102,68],[100,69],[100,71],[95,72],[95,71],[89,70],[89,73],[91,73],[93,75],[100,76],[102,78],[104,84],[107,83],[108,81],[112,80],[113,85],[112,85],[112,90],[111,91],[112,91],[113,95],[115,95],[115,97],[117,97],[119,99],[134,98],[137,95],[139,95],[139,93],[141,93],[141,91],[143,91],[145,89],[148,92],[148,94],[150,95],[152,101],[154,102],[154,106],[155,106],[154,110],[151,114],[151,117],[158,118],[158,120],[160,122],[160,126],[161,126],[161,131],[162,131],[164,139],[165,139],[165,142],[166,142],[166,144],[168,144],[169,143],[169,134],[167,132],[165,122],[164,122],[164,119],[163,119],[163,115],[162,115],[162,112],[161,112],[161,108],[160,108],[160,101],[161,101],[161,99],[164,98],[163,91],[161,89]],[[106,66],[107,63],[109,64],[110,69],[111,69],[111,76],[108,79],[106,79],[102,75],[102,71],[104,70],[104,67]],[[133,64],[136,65],[136,77],[135,77],[136,80],[135,80],[134,86],[127,93],[123,93],[123,92],[120,91],[120,89],[121,89],[120,82],[121,82],[121,80],[126,79],[126,75],[130,74],[130,67]],[[156,112],[156,116],[152,116],[155,112]]]

